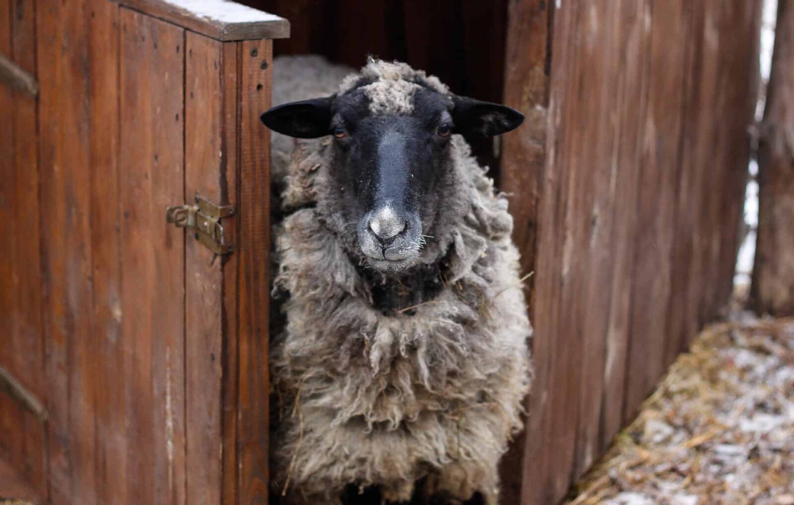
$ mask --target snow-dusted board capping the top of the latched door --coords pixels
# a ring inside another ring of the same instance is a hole
[[[229,0],[121,0],[121,5],[217,40],[290,36],[283,17]]]

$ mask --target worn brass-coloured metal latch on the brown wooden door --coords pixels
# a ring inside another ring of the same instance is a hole
[[[165,220],[178,228],[195,230],[196,240],[215,254],[229,254],[233,248],[225,242],[222,218],[234,214],[234,207],[216,205],[202,195],[195,195],[195,205],[166,207]]]

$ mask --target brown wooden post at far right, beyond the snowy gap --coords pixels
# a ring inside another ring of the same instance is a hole
[[[794,315],[794,2],[780,0],[758,151],[758,241],[752,304]]]

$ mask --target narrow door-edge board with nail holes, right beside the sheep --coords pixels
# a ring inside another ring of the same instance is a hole
[[[268,499],[268,253],[270,135],[259,120],[270,106],[272,41],[240,44],[238,331],[240,503]]]

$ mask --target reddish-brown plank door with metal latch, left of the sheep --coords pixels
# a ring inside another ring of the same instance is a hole
[[[0,240],[0,385],[18,386],[0,388],[0,495],[10,465],[41,503],[267,501],[259,114],[268,38],[288,24],[260,18],[0,0],[0,55],[39,83],[38,97],[0,83],[0,222],[13,238]],[[203,220],[214,206],[223,216]],[[167,222],[168,207],[198,227]],[[220,227],[230,250],[217,255]]]

